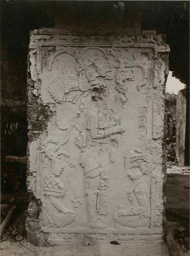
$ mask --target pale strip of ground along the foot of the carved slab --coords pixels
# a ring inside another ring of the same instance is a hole
[[[166,244],[159,243],[121,243],[96,242],[84,247],[49,246],[37,247],[26,240],[20,242],[2,242],[1,256],[169,256]]]

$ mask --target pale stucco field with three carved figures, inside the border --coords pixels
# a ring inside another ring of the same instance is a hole
[[[55,104],[56,115],[48,123],[46,141],[35,142],[40,145],[37,169],[29,183],[42,201],[44,232],[65,227],[84,229],[84,234],[120,229],[147,234],[160,228],[154,224],[161,214],[159,207],[155,212],[152,175],[157,163],[148,148],[158,133],[152,55],[151,48],[132,46],[42,45],[41,98],[44,105]]]

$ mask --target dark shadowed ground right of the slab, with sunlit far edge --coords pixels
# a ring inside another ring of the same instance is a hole
[[[167,168],[166,219],[174,239],[184,252],[189,250],[190,216],[190,168]],[[189,254],[188,254],[189,255]]]

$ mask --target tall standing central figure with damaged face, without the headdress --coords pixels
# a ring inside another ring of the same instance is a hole
[[[84,167],[85,174],[85,195],[87,203],[87,213],[90,222],[90,228],[105,228],[98,215],[107,214],[106,194],[109,178],[105,176],[104,169],[99,160],[101,144],[109,143],[107,137],[112,134],[122,133],[125,129],[119,126],[119,118],[115,112],[107,113],[105,111],[104,100],[105,90],[97,88],[91,93],[93,99],[92,106],[86,112],[86,136],[81,133],[76,140],[80,148],[79,164]]]

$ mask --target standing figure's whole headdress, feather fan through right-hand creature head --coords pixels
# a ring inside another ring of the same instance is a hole
[[[96,56],[87,59],[85,52],[88,50],[97,50]],[[76,70],[78,72],[78,77],[67,75],[63,60],[62,75],[53,78],[49,84],[49,93],[57,103],[69,101],[75,104],[81,96],[87,96],[94,86],[104,86],[98,77],[103,77],[108,80],[115,78],[116,89],[120,93],[121,102],[126,102],[128,96],[127,85],[125,82],[135,80],[133,70],[135,67],[140,68],[143,74],[142,81],[137,84],[138,90],[141,91],[141,87],[147,82],[147,72],[143,66],[140,64],[128,63],[127,60],[123,60],[114,47],[107,50],[107,52],[99,47],[86,47],[80,54],[73,48],[63,47],[62,50],[60,49],[51,57],[49,61],[49,71],[51,70],[55,57],[64,52],[73,56],[77,61]],[[100,54],[98,52],[102,52],[105,59],[109,59],[109,55],[115,57],[115,68],[117,68],[115,72],[112,70],[111,64],[107,63],[106,66],[102,65]],[[144,58],[141,59],[144,61]]]

